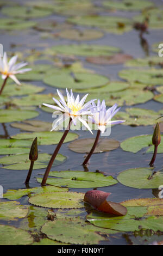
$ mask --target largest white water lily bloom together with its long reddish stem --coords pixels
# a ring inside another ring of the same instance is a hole
[[[89,125],[86,123],[86,120],[84,120],[82,118],[82,115],[91,115],[92,114],[91,109],[92,109],[92,107],[94,108],[94,105],[92,105],[92,103],[96,99],[90,100],[89,102],[84,104],[88,94],[86,94],[81,100],[80,100],[79,95],[77,95],[77,97],[75,99],[73,96],[72,90],[71,90],[71,93],[69,94],[68,90],[66,89],[67,100],[65,101],[64,96],[61,94],[61,92],[59,90],[57,90],[57,93],[60,97],[60,100],[58,101],[55,98],[53,98],[53,100],[55,101],[55,103],[57,103],[58,106],[53,106],[53,105],[43,103],[44,106],[55,109],[55,112],[53,113],[53,115],[56,115],[56,114],[59,115],[59,118],[57,119],[57,121],[53,122],[51,131],[55,130],[66,119],[69,119],[69,123],[68,123],[68,126],[67,126],[64,134],[62,135],[62,137],[60,139],[60,142],[58,143],[57,147],[54,150],[51,160],[48,163],[48,166],[46,168],[45,174],[43,175],[43,179],[41,182],[42,186],[44,186],[46,184],[46,180],[47,180],[48,174],[51,170],[52,164],[55,160],[55,157],[58,154],[58,151],[59,151],[62,143],[64,142],[64,140],[67,136],[68,131],[70,130],[70,126],[71,126],[72,122],[76,126],[77,120],[79,120],[92,133]]]

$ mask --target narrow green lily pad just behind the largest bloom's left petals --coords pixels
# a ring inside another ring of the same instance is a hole
[[[24,96],[21,99],[14,99],[12,103],[17,106],[40,106],[42,103],[48,103],[54,105],[53,97],[58,98],[56,94],[32,94]],[[54,111],[53,111],[54,112]]]

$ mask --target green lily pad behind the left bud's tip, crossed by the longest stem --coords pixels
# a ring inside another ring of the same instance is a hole
[[[37,144],[38,145],[53,145],[58,144],[61,137],[63,135],[63,132],[60,131],[44,131],[44,132],[23,132],[18,133],[17,135],[11,136],[11,138],[15,139],[29,139],[30,141],[33,141],[35,137],[37,137]],[[77,133],[68,132],[68,135],[65,138],[64,143],[73,141],[74,139],[77,139],[78,135]]]

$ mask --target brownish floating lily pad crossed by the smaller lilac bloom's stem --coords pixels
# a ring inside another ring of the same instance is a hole
[[[94,142],[95,139],[93,138],[78,139],[77,141],[71,142],[68,148],[77,153],[89,153]],[[120,143],[115,139],[99,139],[98,145],[93,153],[111,151],[117,149],[119,145]]]

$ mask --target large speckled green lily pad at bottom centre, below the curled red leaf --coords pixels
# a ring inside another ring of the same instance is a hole
[[[104,240],[100,234],[93,230],[93,226],[87,224],[81,218],[62,218],[53,222],[47,221],[41,231],[49,239],[57,240],[73,245],[96,245]]]

